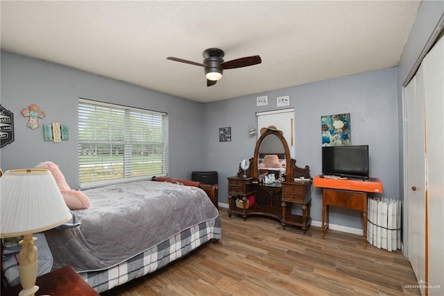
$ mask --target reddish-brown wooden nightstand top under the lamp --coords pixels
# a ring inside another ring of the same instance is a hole
[[[42,277],[37,277],[35,283],[39,290],[35,295],[53,296],[98,296],[89,284],[74,271],[71,266],[65,266],[58,270],[53,270]],[[2,296],[17,296],[22,290],[22,285],[18,284],[12,288],[1,291]]]

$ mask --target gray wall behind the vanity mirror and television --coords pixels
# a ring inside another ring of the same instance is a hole
[[[276,97],[289,95],[295,108],[296,161],[321,174],[321,116],[350,113],[352,144],[370,145],[370,174],[381,179],[384,196],[398,199],[398,107],[396,68],[274,90],[205,104],[203,169],[219,172],[219,202],[228,203],[228,176],[237,173],[244,158],[253,157],[256,138],[248,134],[256,112],[275,110]],[[268,95],[268,106],[256,97]],[[219,127],[231,126],[231,142],[219,142]],[[263,126],[257,126],[258,130]],[[311,217],[321,221],[321,190],[311,194]],[[332,208],[332,224],[362,228],[361,214]]]

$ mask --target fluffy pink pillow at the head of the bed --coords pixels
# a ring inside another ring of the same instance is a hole
[[[58,165],[51,161],[45,161],[34,167],[35,169],[49,170],[53,174],[54,179],[60,192],[62,192],[63,199],[70,210],[80,210],[82,208],[89,208],[89,198],[80,190],[72,190],[65,179],[65,176],[60,171]]]

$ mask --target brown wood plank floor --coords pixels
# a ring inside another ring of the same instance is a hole
[[[221,208],[222,239],[153,274],[102,293],[139,295],[418,295],[400,250],[388,252],[362,237],[321,228],[283,230],[278,220],[246,221]]]

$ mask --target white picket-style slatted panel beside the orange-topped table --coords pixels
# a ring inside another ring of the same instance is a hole
[[[401,201],[369,197],[367,212],[367,241],[390,252],[401,249]]]

